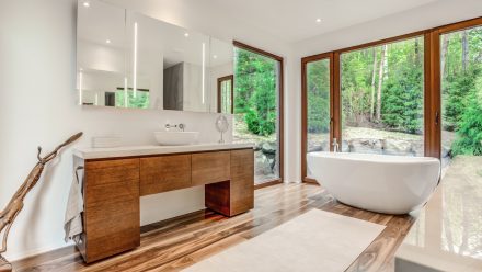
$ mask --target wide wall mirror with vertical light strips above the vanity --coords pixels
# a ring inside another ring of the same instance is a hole
[[[231,43],[96,0],[79,1],[77,38],[81,105],[220,112],[232,101],[232,79],[219,81],[232,78]]]

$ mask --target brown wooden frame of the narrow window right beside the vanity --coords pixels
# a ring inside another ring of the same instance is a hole
[[[262,56],[265,56],[267,58],[274,59],[279,63],[279,78],[278,78],[278,157],[279,157],[279,178],[274,180],[267,180],[263,183],[255,184],[254,189],[261,189],[265,186],[276,185],[284,182],[284,169],[285,169],[285,127],[284,127],[284,121],[285,121],[285,111],[284,111],[284,93],[285,93],[285,68],[284,68],[284,58],[282,56],[272,54],[269,52],[256,48],[254,46],[241,43],[239,41],[232,42],[233,46],[240,49],[249,50]],[[234,101],[233,101],[234,102]],[[234,103],[233,103],[234,104]]]

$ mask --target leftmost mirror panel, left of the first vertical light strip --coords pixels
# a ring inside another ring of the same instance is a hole
[[[117,89],[125,81],[125,10],[89,3],[78,4],[79,104],[115,106]]]

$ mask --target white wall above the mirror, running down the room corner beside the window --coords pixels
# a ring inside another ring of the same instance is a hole
[[[146,15],[176,24],[222,41],[239,41],[285,58],[284,97],[285,97],[285,182],[299,182],[299,148],[297,132],[299,107],[296,97],[299,88],[296,84],[296,70],[299,59],[295,58],[292,46],[279,37],[246,26],[226,14],[222,8],[206,4],[209,1],[198,0],[102,0]],[[249,19],[246,19],[249,20]]]

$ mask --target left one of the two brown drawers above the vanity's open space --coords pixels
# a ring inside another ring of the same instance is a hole
[[[191,155],[140,159],[140,195],[191,186]]]

